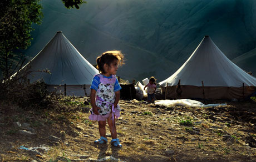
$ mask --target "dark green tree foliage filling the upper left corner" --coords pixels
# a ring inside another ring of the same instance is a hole
[[[0,1],[0,61],[1,70],[9,77],[13,50],[26,49],[31,44],[32,23],[40,24],[40,0]]]

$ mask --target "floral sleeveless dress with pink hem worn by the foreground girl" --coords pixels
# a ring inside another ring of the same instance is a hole
[[[112,112],[112,118],[114,118],[114,115],[117,118],[120,117],[120,106],[117,105],[116,108],[114,108],[114,102],[115,102],[115,81],[116,76],[112,75],[111,78],[104,78],[103,75],[97,74],[98,77],[100,77],[100,84],[99,88],[96,92],[96,106],[101,108],[98,110],[100,115],[96,115],[93,113],[93,110],[91,109],[91,115],[89,116],[90,120],[97,120],[97,121],[105,121],[107,118],[109,118],[111,112]]]

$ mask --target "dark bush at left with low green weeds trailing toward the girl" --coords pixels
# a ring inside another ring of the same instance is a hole
[[[47,70],[42,70],[47,72]],[[63,94],[49,92],[43,80],[29,83],[27,75],[19,73],[11,79],[0,80],[0,103],[18,105],[22,109],[55,109],[63,112],[80,110],[85,104],[73,97],[64,97]]]

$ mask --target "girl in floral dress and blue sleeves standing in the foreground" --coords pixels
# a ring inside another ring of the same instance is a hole
[[[97,57],[97,69],[100,74],[93,77],[91,84],[91,115],[90,120],[97,120],[99,123],[100,139],[95,143],[107,143],[106,120],[110,127],[111,144],[120,146],[116,134],[115,118],[120,117],[120,84],[116,79],[116,72],[119,65],[124,64],[124,55],[119,50],[107,51]]]

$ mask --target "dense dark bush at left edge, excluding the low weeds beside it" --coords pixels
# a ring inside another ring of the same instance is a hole
[[[0,82],[0,102],[17,104],[26,108],[48,108],[53,103],[53,93],[48,92],[43,80],[32,84],[16,78]],[[56,98],[56,97],[55,97]]]

